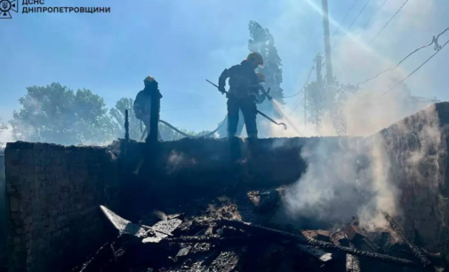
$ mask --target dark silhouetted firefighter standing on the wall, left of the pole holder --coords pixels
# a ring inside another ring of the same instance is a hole
[[[147,76],[143,83],[145,88],[137,94],[134,100],[134,114],[145,124],[145,130],[148,132],[146,141],[154,143],[161,139],[158,123],[162,95],[154,77]]]

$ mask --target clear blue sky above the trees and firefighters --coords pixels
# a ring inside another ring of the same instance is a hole
[[[365,2],[357,1],[343,30]],[[362,29],[382,2],[370,1],[351,29],[354,39],[345,36],[333,52],[335,70],[351,58],[357,60],[339,76],[342,82],[373,76],[449,27],[446,0],[410,0],[372,44],[373,52],[360,52],[357,41],[369,40],[403,3],[389,0]],[[340,22],[352,3],[331,0],[333,20]],[[224,68],[245,58],[249,20],[269,28],[275,37],[284,65],[285,95],[301,88],[315,54],[324,52],[322,20],[314,4],[319,7],[321,0],[45,0],[47,7],[110,6],[111,12],[13,13],[12,20],[0,20],[0,116],[11,118],[29,85],[60,82],[75,90],[87,88],[112,107],[122,97],[133,98],[143,78],[152,75],[164,95],[164,120],[190,130],[213,129],[226,114],[226,100],[205,79],[216,81]],[[331,26],[331,33],[335,28]],[[407,61],[405,75],[432,52],[430,48]],[[407,81],[413,93],[449,100],[447,63],[445,48]],[[287,100],[287,106],[294,102]]]

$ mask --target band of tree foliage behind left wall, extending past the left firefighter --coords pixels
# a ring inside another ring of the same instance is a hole
[[[104,100],[91,91],[76,92],[52,83],[31,86],[20,98],[20,110],[13,112],[10,124],[14,140],[52,142],[62,145],[107,144],[124,138],[124,111],[128,109],[129,132],[132,140],[140,140],[145,128],[133,112],[133,100],[122,98],[114,108],[106,108]],[[0,122],[0,133],[5,126]],[[184,138],[164,124],[159,124],[162,140]],[[189,132],[202,135],[206,132]]]

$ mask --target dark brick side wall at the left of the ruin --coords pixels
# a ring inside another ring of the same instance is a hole
[[[16,142],[5,149],[10,271],[64,271],[105,240],[98,205],[115,167],[105,148]]]

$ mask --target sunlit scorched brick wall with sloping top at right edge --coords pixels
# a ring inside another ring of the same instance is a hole
[[[381,136],[381,137],[380,137]],[[449,250],[449,103],[438,103],[393,124],[382,140],[389,182],[397,188],[397,220],[430,252]]]

